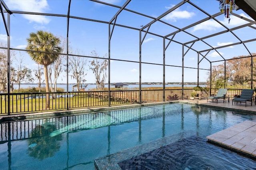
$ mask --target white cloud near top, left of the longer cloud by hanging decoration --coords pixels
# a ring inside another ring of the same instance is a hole
[[[173,5],[171,7],[165,7],[165,8],[170,9],[172,7]],[[186,10],[182,11],[180,10],[180,8],[177,8],[176,10],[172,11],[170,14],[167,14],[166,16],[164,16],[163,20],[176,22],[178,19],[188,19],[194,15],[195,15],[194,12],[188,12]]]

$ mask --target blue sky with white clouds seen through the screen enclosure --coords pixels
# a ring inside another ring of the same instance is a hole
[[[25,12],[39,12],[49,14],[62,14],[67,15],[68,0],[4,0],[10,10],[25,11]],[[125,0],[104,0],[109,4],[116,6],[123,6]],[[143,13],[147,16],[157,18],[164,14],[164,12],[170,10],[176,4],[182,2],[182,0],[132,0],[126,8],[139,13]],[[190,0],[193,4],[203,9],[210,15],[220,12],[219,2],[216,0]],[[72,0],[70,6],[70,16],[77,16],[81,18],[90,18],[92,20],[101,20],[109,22],[113,16],[118,12],[119,8],[106,6],[92,1]],[[242,17],[252,20],[244,11],[234,11]],[[203,12],[196,9],[191,4],[185,3],[170,14],[161,18],[162,21],[174,25],[178,28],[184,28],[196,21],[200,21],[208,17]],[[7,19],[7,15],[5,15]],[[224,17],[224,14],[216,17],[221,23],[228,28],[237,27],[248,23],[248,21],[242,20],[236,16],[230,16],[230,22]],[[128,11],[122,11],[116,18],[116,24],[127,25],[128,27],[134,27],[137,29],[142,28],[144,25],[150,23],[153,19],[133,14]],[[146,27],[149,32],[155,33],[161,36],[169,35],[177,31],[175,27],[170,27],[160,21],[153,23],[150,28]],[[252,27],[256,27],[255,24]],[[249,40],[256,37],[256,31],[252,27],[246,27],[242,29],[234,30],[233,33],[237,35],[242,41]],[[111,29],[113,27],[111,26]],[[65,17],[53,17],[53,16],[40,16],[40,15],[25,15],[25,14],[12,14],[10,16],[10,47],[16,49],[25,49],[27,42],[26,38],[29,37],[31,32],[38,30],[49,31],[58,37],[64,37],[62,40],[66,41],[67,31],[67,18]],[[197,37],[205,37],[220,31],[226,30],[222,25],[214,20],[205,21],[194,27],[186,29],[190,34]],[[234,36],[234,34],[228,32],[218,35],[216,37],[210,37],[204,39],[204,41],[210,44],[212,47],[219,47],[222,45],[228,45],[237,43],[240,40]],[[145,33],[142,33],[142,39]],[[138,30],[128,29],[125,27],[115,26],[113,29],[112,37],[110,39],[110,58],[115,59],[110,61],[110,83],[115,82],[139,82],[139,61],[140,61],[140,34]],[[181,82],[182,81],[182,45],[175,43],[175,41],[186,43],[195,39],[191,35],[180,32],[171,35],[169,39],[173,38],[174,42],[166,48],[165,51],[165,82]],[[0,42],[7,43],[7,35],[4,28],[2,17],[0,18]],[[69,53],[76,55],[90,56],[90,52],[95,50],[99,57],[103,57],[108,54],[108,24],[99,23],[94,21],[85,21],[70,18],[69,27]],[[167,46],[168,40],[165,40]],[[197,51],[210,49],[210,46],[196,41],[188,44],[192,45],[192,48]],[[256,53],[255,42],[246,43],[246,47],[252,52]],[[187,51],[187,47],[184,48],[184,53]],[[235,46],[225,47],[219,49],[218,53],[211,50],[209,53],[203,52],[203,55],[210,61],[220,61],[222,55],[225,59],[237,57],[241,55],[249,55],[246,48],[239,44]],[[220,54],[220,55],[219,55]],[[26,64],[32,70],[37,67],[37,64],[30,59],[30,56],[26,52],[16,51],[16,57],[22,57],[24,64]],[[87,60],[87,64],[89,61]],[[124,61],[120,61],[124,60]],[[199,81],[206,82],[208,78],[208,72],[210,63],[202,56],[199,57],[200,65],[202,68],[199,71]],[[126,62],[132,61],[132,62]],[[152,34],[146,34],[144,41],[142,42],[141,49],[141,61],[144,62],[141,65],[141,80],[142,82],[163,82],[163,38]],[[155,64],[148,64],[155,63]],[[184,69],[184,82],[196,82],[197,81],[197,68],[198,55],[193,50],[188,50],[184,56],[184,66],[188,67]],[[223,62],[214,62],[212,65],[222,64]],[[13,66],[18,64],[14,61]],[[86,82],[95,83],[94,74],[92,70],[87,68]],[[58,83],[66,83],[66,73],[62,73],[58,79]],[[37,82],[37,80],[35,80]],[[75,80],[69,76],[69,83],[74,83]],[[107,82],[107,81],[106,81]]]

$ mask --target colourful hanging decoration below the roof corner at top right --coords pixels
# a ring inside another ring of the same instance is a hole
[[[225,14],[225,18],[230,21],[230,14],[232,10],[235,10],[235,0],[218,0],[220,2],[220,11]]]

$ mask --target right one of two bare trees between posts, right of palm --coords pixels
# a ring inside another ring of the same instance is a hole
[[[96,89],[104,90],[105,81],[107,78],[108,60],[98,59],[99,55],[95,50],[91,52],[91,56],[96,57],[90,62],[91,63],[90,69],[94,73],[94,76],[96,79]],[[103,58],[106,58],[106,57],[107,57],[107,54],[103,56]]]

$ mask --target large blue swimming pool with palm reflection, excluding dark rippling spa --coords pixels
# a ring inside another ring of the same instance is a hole
[[[205,139],[245,120],[256,115],[176,103],[12,121],[0,127],[0,167],[93,170],[108,154],[184,133]]]

